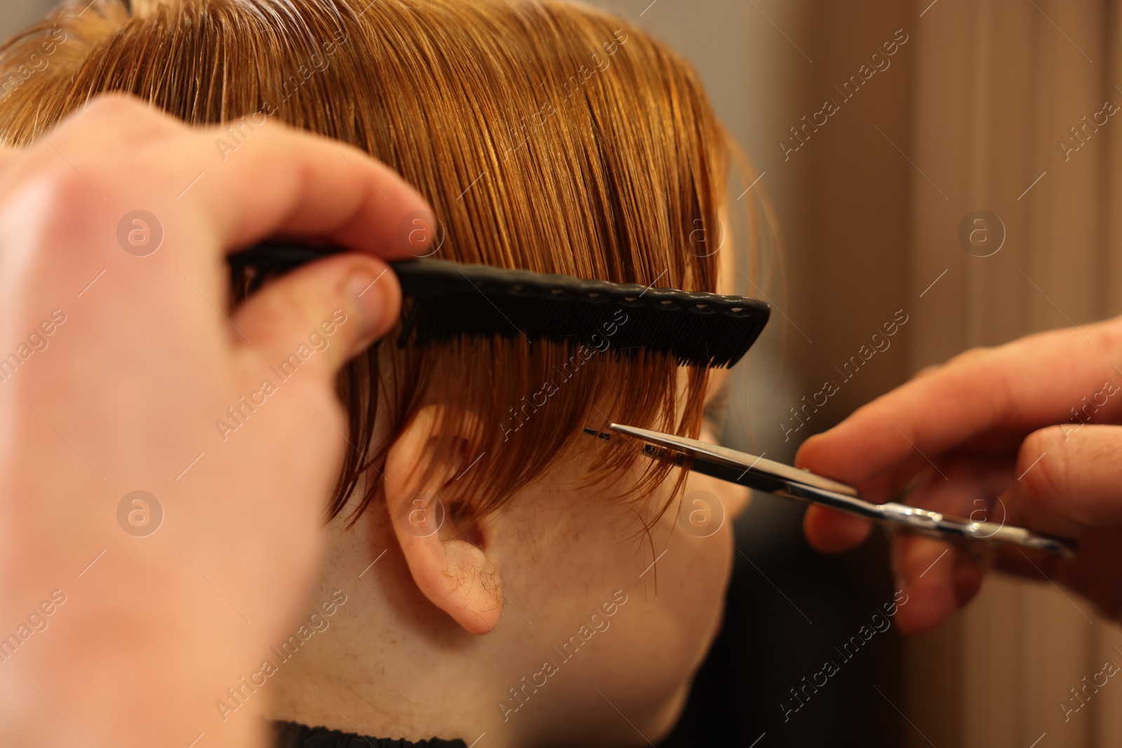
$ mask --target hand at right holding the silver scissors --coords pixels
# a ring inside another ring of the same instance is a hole
[[[1122,427],[1104,425],[1122,424],[1120,369],[1122,317],[1031,335],[923,370],[803,444],[800,467],[874,500],[916,480],[909,504],[1078,538],[1077,558],[1061,561],[1015,546],[975,558],[898,536],[893,569],[910,599],[898,613],[904,631],[944,622],[977,593],[990,565],[1047,576],[1122,620]],[[817,548],[840,551],[870,525],[811,508],[804,529]]]

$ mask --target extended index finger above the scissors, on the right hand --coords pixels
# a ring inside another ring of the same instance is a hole
[[[1027,434],[1070,421],[1083,398],[1100,396],[1096,410],[1109,413],[1098,417],[1110,417],[1122,410],[1122,398],[1102,391],[1109,382],[1114,393],[1122,388],[1111,359],[1119,327],[1111,320],[967,351],[810,437],[795,464],[859,484],[917,454],[934,461],[988,433]]]

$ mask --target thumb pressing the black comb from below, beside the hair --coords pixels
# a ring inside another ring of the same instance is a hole
[[[268,281],[231,320],[243,349],[282,378],[331,382],[386,334],[402,304],[397,276],[367,255],[338,255]]]

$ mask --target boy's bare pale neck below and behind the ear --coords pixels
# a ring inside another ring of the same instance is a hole
[[[488,678],[500,669],[498,637],[468,634],[421,595],[379,514],[349,530],[331,523],[311,600],[320,620],[274,647],[282,662],[268,715],[379,738],[470,745],[486,731],[489,747],[525,745],[509,726],[496,729],[504,689]]]

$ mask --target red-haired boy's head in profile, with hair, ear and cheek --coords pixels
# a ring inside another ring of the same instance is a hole
[[[434,215],[405,216],[401,240],[432,231],[435,257],[727,290],[724,131],[691,68],[609,15],[554,0],[132,4],[82,0],[0,52],[0,141],[26,144],[104,91],[228,122],[223,160],[277,119],[403,174]],[[31,53],[48,64],[25,76]],[[617,350],[625,324],[606,310],[569,345],[383,344],[348,367],[351,450],[324,497],[318,592],[348,602],[278,667],[275,717],[487,731],[488,745],[589,745],[590,730],[642,744],[672,723],[719,621],[743,496],[721,504],[715,481],[582,434],[700,432],[708,373]]]

